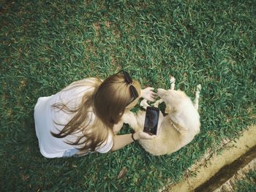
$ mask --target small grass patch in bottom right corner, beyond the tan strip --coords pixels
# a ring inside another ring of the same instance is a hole
[[[249,171],[246,178],[238,180],[235,185],[236,192],[255,192],[256,191],[256,172]]]

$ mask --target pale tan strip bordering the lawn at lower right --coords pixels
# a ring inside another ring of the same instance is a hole
[[[190,176],[185,178],[180,183],[176,183],[175,185],[168,185],[163,191],[195,191],[196,188],[199,191],[201,189],[199,187],[203,186],[203,184],[211,178],[214,178],[214,175],[217,175],[220,169],[233,164],[233,162],[241,158],[249,150],[255,147],[255,136],[256,126],[250,126],[248,129],[246,129],[246,131],[244,131],[243,135],[238,140],[236,140],[236,142],[232,141],[225,144],[225,147],[220,155],[206,155],[204,158],[194,164],[189,169],[189,172],[192,173],[190,175],[196,174],[195,177]],[[255,150],[252,150],[252,153],[255,153]],[[225,183],[225,181],[226,179],[218,182]],[[217,183],[217,181],[215,181],[215,184],[218,185],[222,185],[222,183]],[[211,188],[210,191],[212,190],[214,189]]]

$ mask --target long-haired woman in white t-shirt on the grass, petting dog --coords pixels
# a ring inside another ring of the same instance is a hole
[[[40,97],[34,107],[40,152],[46,158],[107,153],[136,139],[154,139],[142,131],[117,135],[124,112],[135,107],[140,96],[154,101],[152,90],[140,90],[140,83],[121,71],[103,82],[91,77]]]

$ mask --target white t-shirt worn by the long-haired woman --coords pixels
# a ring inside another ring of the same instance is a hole
[[[72,134],[64,138],[56,138],[50,134],[50,131],[58,134],[64,128],[74,114],[65,113],[62,110],[53,109],[52,105],[56,103],[67,104],[67,107],[77,107],[80,104],[83,95],[87,91],[94,89],[90,84],[95,81],[95,78],[87,78],[80,80],[83,86],[69,85],[64,90],[52,96],[40,97],[34,107],[34,122],[39,141],[39,149],[42,155],[46,158],[60,158],[75,155],[78,152],[77,148],[81,146],[69,145],[66,142],[75,142],[80,133]],[[89,113],[91,122],[94,121],[94,113]],[[61,125],[58,125],[58,124]],[[58,131],[59,130],[59,131]],[[66,141],[66,142],[65,142]],[[96,148],[99,153],[107,153],[113,147],[112,134],[108,134],[108,139],[102,145]]]

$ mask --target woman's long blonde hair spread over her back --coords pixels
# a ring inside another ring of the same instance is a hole
[[[94,79],[94,83],[90,84],[94,89],[86,91],[81,103],[75,109],[70,109],[63,103],[53,104],[53,108],[75,115],[67,125],[63,125],[64,128],[59,131],[59,134],[53,132],[51,134],[57,138],[64,138],[81,132],[81,136],[75,142],[67,143],[81,146],[78,149],[84,152],[95,150],[102,145],[108,139],[108,134],[113,134],[113,125],[121,120],[124,110],[130,110],[139,99],[129,104],[132,94],[129,91],[130,85],[124,80],[124,74],[114,74],[103,82],[99,78]],[[83,85],[85,83],[75,82],[72,87]],[[86,85],[89,83],[87,82]],[[140,95],[140,83],[134,80],[132,85]],[[90,112],[95,115],[93,123],[91,123]]]

